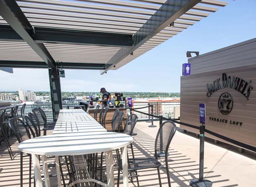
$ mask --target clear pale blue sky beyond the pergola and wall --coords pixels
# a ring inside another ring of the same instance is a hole
[[[65,70],[61,91],[180,92],[186,51],[204,54],[256,37],[256,0],[225,0],[209,17],[158,45],[117,71],[100,75],[98,70]],[[49,91],[47,69],[15,68],[0,71],[0,91]]]

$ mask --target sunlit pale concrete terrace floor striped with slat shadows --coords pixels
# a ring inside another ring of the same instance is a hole
[[[155,122],[157,127],[148,127],[148,125],[150,124],[146,122],[138,122],[136,125],[134,152],[137,158],[153,157],[154,139],[159,125],[158,122]],[[10,139],[10,142],[15,153],[13,160],[9,158],[5,144],[0,146],[0,187],[20,186],[20,155],[15,138]],[[177,125],[169,154],[172,187],[188,187],[189,181],[199,176],[199,139],[192,133],[182,133]],[[241,154],[237,147],[224,143],[214,144],[211,139],[207,139],[204,158],[204,177],[213,182],[213,187],[256,187],[255,153],[245,151]],[[28,158],[24,159],[24,187],[29,186],[28,161]],[[164,159],[161,159],[161,162],[164,164]],[[163,169],[160,172],[163,187],[167,187],[166,170]],[[55,173],[55,170],[50,170],[50,173]],[[159,186],[156,169],[140,170],[138,174],[140,187]],[[55,181],[56,178],[52,177],[52,187],[56,186]],[[136,179],[134,183],[130,182],[129,186],[137,186]]]

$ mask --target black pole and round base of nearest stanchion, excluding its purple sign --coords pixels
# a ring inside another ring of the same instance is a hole
[[[205,126],[200,126],[200,161],[199,161],[199,180],[189,181],[191,187],[212,187],[212,182],[204,180],[204,130]]]

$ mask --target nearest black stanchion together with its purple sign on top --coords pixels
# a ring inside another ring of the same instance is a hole
[[[205,130],[205,104],[199,103],[199,120],[200,120],[200,160],[199,160],[199,180],[189,181],[191,187],[212,187],[212,182],[204,180],[204,130]]]

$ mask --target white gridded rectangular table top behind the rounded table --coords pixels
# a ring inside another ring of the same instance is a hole
[[[82,109],[62,109],[59,112],[53,134],[75,132],[106,132],[92,116]]]

